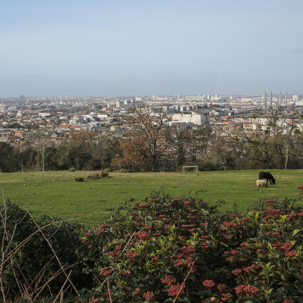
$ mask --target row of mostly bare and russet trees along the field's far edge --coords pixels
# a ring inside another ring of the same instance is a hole
[[[302,114],[260,113],[267,126],[253,133],[244,128],[223,131],[217,125],[192,130],[165,123],[165,112],[133,109],[132,131],[115,134],[72,132],[59,145],[45,132],[22,148],[0,142],[0,171],[111,170],[175,171],[198,165],[200,171],[302,168]]]

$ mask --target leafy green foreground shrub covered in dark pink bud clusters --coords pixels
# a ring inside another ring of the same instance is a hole
[[[65,266],[78,262],[78,274],[70,281],[62,272],[58,275],[65,288],[71,283],[75,287],[69,287],[64,298],[78,303],[303,302],[303,186],[298,190],[297,201],[259,201],[246,214],[221,213],[224,201],[208,205],[195,197],[199,193],[173,199],[161,190],[145,201],[130,200],[84,236],[74,233],[75,247],[62,246],[73,259],[64,261]],[[58,231],[67,227],[64,222]],[[6,232],[13,231],[6,228]],[[48,235],[56,237],[55,232]],[[62,231],[61,235],[57,239],[63,244],[67,235]],[[35,238],[32,245],[43,247],[42,240]],[[18,241],[10,243],[11,250],[14,245]],[[59,246],[58,255],[64,255]],[[4,240],[2,256],[6,247]],[[34,249],[29,245],[5,263],[5,270],[1,267],[1,286],[4,279],[10,283],[2,286],[2,297],[18,298],[12,270],[18,277],[15,281],[23,285],[25,274],[19,269],[29,266],[31,260],[26,258]],[[48,257],[54,262],[51,254]],[[40,267],[32,266],[32,278],[41,267],[48,271],[42,264],[47,261],[45,256]],[[52,285],[45,288],[43,296],[54,298],[60,293],[58,285],[54,291]],[[33,297],[33,288],[28,288],[24,299]]]

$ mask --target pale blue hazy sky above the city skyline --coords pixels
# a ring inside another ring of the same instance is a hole
[[[302,0],[0,0],[0,97],[303,94]]]

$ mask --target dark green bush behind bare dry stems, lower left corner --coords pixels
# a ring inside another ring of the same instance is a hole
[[[7,300],[12,298],[14,300],[20,296],[21,291],[18,285],[21,285],[23,290],[23,285],[25,285],[34,294],[34,297],[39,288],[58,272],[59,275],[50,281],[40,293],[40,296],[51,296],[59,292],[66,280],[65,275],[60,271],[58,261],[37,225],[42,228],[61,264],[65,268],[74,265],[66,270],[69,273],[72,269],[70,279],[74,285],[77,288],[85,286],[82,268],[77,264],[79,260],[75,255],[77,247],[81,244],[82,225],[67,221],[53,224],[62,220],[48,216],[35,220],[36,225],[27,211],[21,210],[8,200],[0,205],[0,212],[0,235],[1,239],[3,238],[1,255],[4,256],[0,278]],[[69,293],[71,291],[73,291],[72,288]],[[3,298],[1,291],[0,296]]]

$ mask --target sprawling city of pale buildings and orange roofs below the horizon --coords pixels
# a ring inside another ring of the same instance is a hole
[[[42,130],[60,144],[64,134],[73,131],[95,132],[96,135],[123,137],[133,131],[128,115],[131,108],[148,109],[155,116],[164,113],[168,126],[198,129],[213,125],[225,135],[238,128],[254,132],[257,125],[266,127],[266,121],[252,115],[261,110],[287,111],[293,105],[303,106],[302,98],[285,92],[282,98],[273,96],[141,96],[141,97],[50,97],[0,98],[0,142],[22,146],[34,140],[35,132]],[[300,124],[301,125],[301,124]],[[301,127],[301,126],[300,126]],[[228,130],[228,131],[227,131]]]

